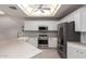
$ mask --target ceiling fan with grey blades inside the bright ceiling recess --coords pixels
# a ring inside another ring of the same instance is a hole
[[[45,4],[34,4],[29,5],[30,8],[34,8],[34,12],[40,11],[41,13],[45,13],[45,10],[50,10],[50,8],[44,7]]]

